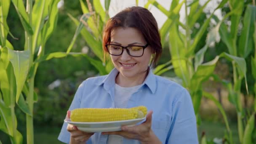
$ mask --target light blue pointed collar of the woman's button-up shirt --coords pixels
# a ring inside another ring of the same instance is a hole
[[[112,69],[112,71],[105,77],[103,80],[101,80],[97,85],[103,85],[106,90],[109,90],[110,88],[115,87],[115,77],[118,74],[118,70],[116,68]],[[142,83],[142,85],[147,85],[147,87],[150,89],[152,93],[155,93],[156,91],[156,76],[153,74],[152,70],[149,68],[149,73]]]

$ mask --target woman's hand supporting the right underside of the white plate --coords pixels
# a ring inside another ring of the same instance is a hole
[[[108,135],[120,135],[127,139],[137,139],[142,144],[161,144],[161,141],[157,138],[155,133],[151,129],[152,125],[152,111],[147,114],[147,120],[140,125],[135,126],[123,126],[122,131],[104,132],[101,134]]]

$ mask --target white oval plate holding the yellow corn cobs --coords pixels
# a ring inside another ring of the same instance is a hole
[[[108,131],[121,131],[121,126],[133,126],[136,123],[145,120],[143,118],[133,120],[119,120],[119,121],[108,121],[108,122],[72,122],[70,119],[65,119],[64,122],[77,126],[80,131],[85,132],[108,132]]]

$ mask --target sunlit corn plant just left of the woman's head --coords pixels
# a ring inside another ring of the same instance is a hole
[[[97,59],[93,59],[88,56],[86,56],[86,58],[94,67],[96,67],[100,75],[107,75],[112,70],[113,65],[109,60],[104,61],[104,53],[102,51],[102,33],[103,27],[109,19],[108,11],[110,0],[105,0],[105,10],[101,5],[100,0],[93,0],[93,3],[90,3],[89,0],[86,0],[86,2],[87,5],[85,5],[83,0],[80,0],[83,15],[88,15],[87,21],[81,20],[81,18],[80,20],[77,20],[72,15],[68,14],[72,21],[74,21],[74,23],[77,25],[77,29],[73,40],[69,45],[67,53],[72,50],[77,35],[80,33],[88,47],[97,57]]]

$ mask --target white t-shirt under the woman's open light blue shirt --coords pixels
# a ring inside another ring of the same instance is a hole
[[[135,93],[141,85],[125,88],[115,84],[115,108],[126,108],[131,95]],[[123,136],[109,135],[107,144],[123,144]]]

